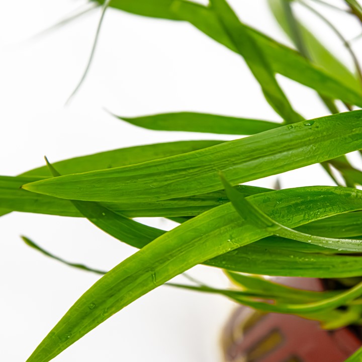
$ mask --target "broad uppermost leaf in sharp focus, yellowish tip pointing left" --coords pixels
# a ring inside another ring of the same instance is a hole
[[[142,164],[66,175],[23,186],[72,200],[138,202],[207,193],[322,162],[362,148],[362,111],[283,126]],[[278,139],[278,142],[276,142]]]

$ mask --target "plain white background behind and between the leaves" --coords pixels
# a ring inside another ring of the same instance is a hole
[[[80,0],[0,1],[0,174],[16,175],[42,165],[44,154],[54,162],[138,144],[234,138],[147,131],[111,117],[103,108],[125,116],[199,111],[279,120],[239,56],[189,24],[113,9],[106,13],[86,81],[64,107],[86,64],[100,10],[36,40],[29,38],[82,4]],[[289,44],[265,1],[232,4],[243,21]],[[321,9],[347,39],[361,31],[347,16]],[[310,15],[307,20],[350,64],[334,35]],[[303,116],[326,114],[313,91],[278,79]],[[272,187],[275,180],[269,177],[251,184]],[[288,172],[281,180],[283,188],[332,185],[318,165]],[[165,220],[153,225],[174,226]],[[23,244],[19,235],[61,257],[101,269],[115,266],[135,251],[86,220],[20,213],[0,218],[0,360],[7,362],[25,361],[98,279],[46,258]],[[218,269],[198,266],[190,274],[215,286],[227,285]],[[232,308],[234,304],[221,297],[160,287],[54,361],[218,362],[221,329]]]

